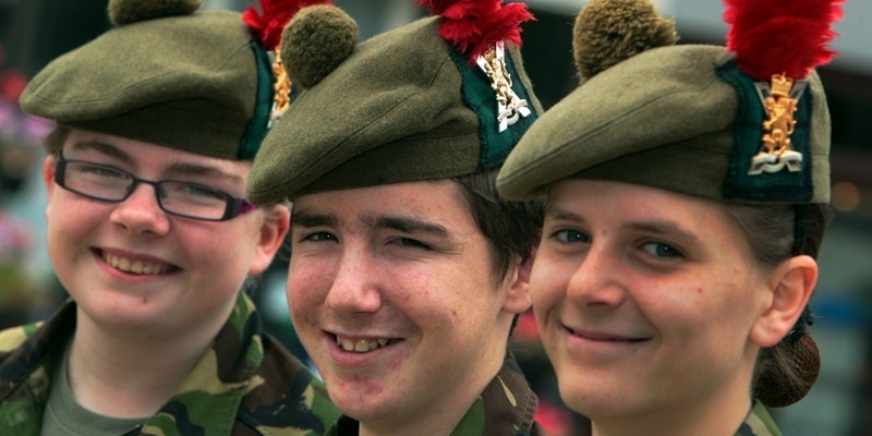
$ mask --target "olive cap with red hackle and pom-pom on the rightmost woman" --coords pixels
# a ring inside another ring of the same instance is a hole
[[[813,68],[835,55],[826,44],[840,1],[727,3],[726,48],[675,46],[671,22],[644,0],[585,5],[574,33],[582,84],[524,135],[500,193],[538,196],[572,178],[735,203],[827,203],[829,113]]]

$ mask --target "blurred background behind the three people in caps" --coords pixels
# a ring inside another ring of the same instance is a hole
[[[253,1],[253,0],[252,0]],[[577,86],[571,31],[582,0],[526,0],[537,21],[523,26],[523,56],[547,109]],[[727,27],[717,0],[655,0],[675,16],[685,43],[724,44]],[[242,11],[249,0],[206,0],[207,9]],[[360,24],[361,38],[424,14],[412,0],[335,0]],[[41,138],[51,125],[19,111],[26,82],[51,59],[109,28],[106,0],[0,0],[0,327],[45,318],[65,298],[45,250]],[[872,435],[872,2],[848,0],[835,26],[839,57],[819,70],[833,119],[835,219],[820,257],[812,327],[822,372],[811,393],[774,410],[786,435]],[[410,62],[414,62],[410,59]],[[256,290],[268,328],[305,360],[284,301],[287,254]],[[532,315],[522,316],[516,353],[542,399],[540,421],[550,435],[584,435],[555,389]],[[628,395],[631,395],[628,392]]]

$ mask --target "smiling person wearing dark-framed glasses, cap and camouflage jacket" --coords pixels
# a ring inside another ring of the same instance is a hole
[[[0,434],[319,435],[338,416],[243,291],[290,225],[244,194],[283,97],[263,24],[295,10],[198,7],[110,1],[114,28],[22,96],[58,124],[47,242],[70,301],[0,332]]]

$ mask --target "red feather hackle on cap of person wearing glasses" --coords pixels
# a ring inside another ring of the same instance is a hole
[[[329,4],[330,0],[257,0],[261,11],[254,5],[245,8],[242,21],[249,25],[265,50],[275,50],[281,41],[281,31],[291,19],[305,7]]]

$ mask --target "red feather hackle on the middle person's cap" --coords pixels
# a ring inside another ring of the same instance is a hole
[[[419,0],[433,15],[443,19],[439,36],[474,64],[475,59],[504,41],[521,46],[520,24],[535,20],[524,3],[502,0]]]

